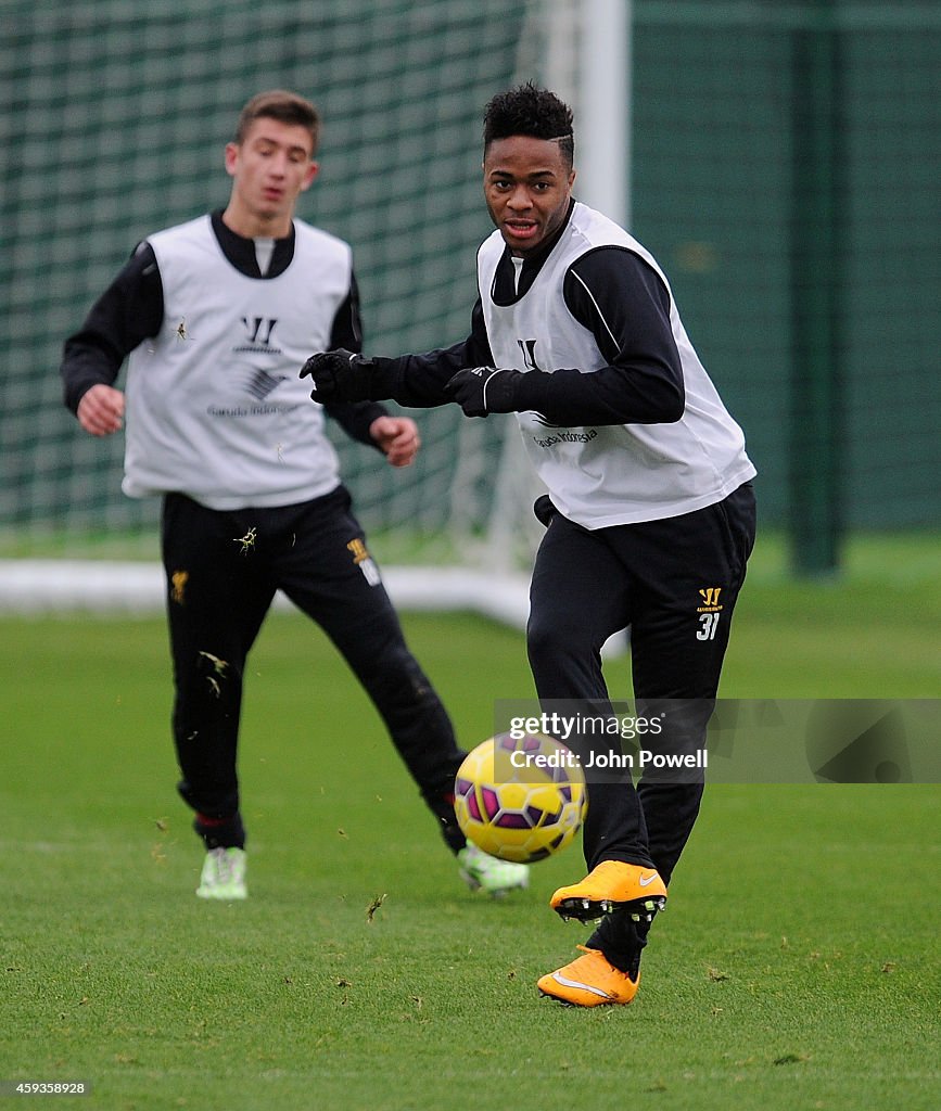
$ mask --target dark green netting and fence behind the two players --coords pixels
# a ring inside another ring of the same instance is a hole
[[[120,493],[119,440],[61,408],[61,343],[139,239],[224,204],[222,148],[260,89],[323,112],[299,214],[353,243],[368,348],[462,338],[490,230],[482,107],[552,83],[540,38],[558,10],[2,0],[0,553],[152,533],[156,504]],[[941,6],[631,10],[632,230],[745,428],[763,523],[818,564],[842,530],[937,524]],[[460,421],[421,421],[404,479],[342,448],[370,530],[448,528]]]

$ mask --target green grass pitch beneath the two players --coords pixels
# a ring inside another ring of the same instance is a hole
[[[895,567],[757,567],[723,693],[935,697],[937,582]],[[493,699],[530,697],[519,632],[406,627],[464,744]],[[941,1105],[938,785],[711,788],[637,1001],[580,1011],[533,987],[584,940],[547,908],[580,848],[519,898],[467,891],[303,620],[272,615],[250,662],[241,905],[193,897],[160,620],[3,620],[0,681],[0,1081],[92,1087],[41,1105]]]

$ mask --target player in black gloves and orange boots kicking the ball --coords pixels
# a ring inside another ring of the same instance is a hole
[[[680,320],[669,282],[627,231],[573,196],[572,113],[532,84],[494,97],[470,336],[394,359],[313,356],[320,402],[457,402],[515,413],[548,496],[527,630],[543,707],[608,705],[601,647],[630,628],[639,710],[661,743],[701,745],[754,540],[754,467]],[[673,720],[675,718],[675,721]],[[629,1003],[641,952],[702,797],[702,772],[588,777],[588,874],[550,900],[601,919],[582,955],[543,975],[564,1003]]]

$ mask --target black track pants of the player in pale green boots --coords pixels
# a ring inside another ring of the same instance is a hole
[[[196,811],[209,818],[238,812],[244,667],[278,589],[342,653],[426,801],[442,810],[463,753],[406,644],[343,488],[303,504],[231,512],[170,494],[162,547],[180,793]]]

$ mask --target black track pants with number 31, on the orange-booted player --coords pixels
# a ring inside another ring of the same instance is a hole
[[[540,700],[607,702],[601,647],[630,627],[638,711],[719,687],[732,612],[754,542],[754,494],[681,517],[588,531],[552,516],[537,556],[527,633]],[[651,748],[654,745],[650,743]],[[653,864],[669,883],[692,830],[701,782],[589,783],[585,861]]]

